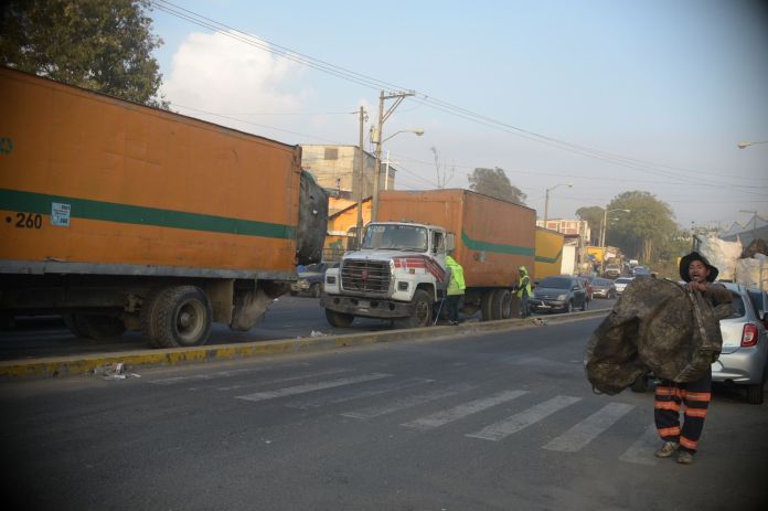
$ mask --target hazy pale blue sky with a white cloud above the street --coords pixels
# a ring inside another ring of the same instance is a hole
[[[437,187],[435,148],[449,188],[500,167],[540,216],[546,189],[570,183],[551,190],[550,217],[631,190],[685,227],[768,217],[768,143],[736,146],[768,141],[768,2],[174,4],[238,31],[151,12],[162,91],[183,114],[286,143],[356,145],[353,111],[374,123],[382,87],[415,91],[384,126],[385,138],[425,130],[384,143],[398,189]]]

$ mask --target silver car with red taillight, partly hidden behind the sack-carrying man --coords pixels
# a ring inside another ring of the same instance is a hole
[[[747,403],[762,403],[762,387],[768,377],[768,312],[755,307],[753,292],[739,284],[722,283],[734,297],[734,313],[721,320],[723,332],[723,351],[719,359],[712,364],[714,382],[735,383],[747,390]],[[756,298],[765,291],[755,290]]]

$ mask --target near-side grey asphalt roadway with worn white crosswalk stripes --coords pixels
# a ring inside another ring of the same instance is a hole
[[[716,387],[692,466],[657,459],[651,394],[593,394],[599,318],[0,384],[24,509],[762,510],[768,406]]]

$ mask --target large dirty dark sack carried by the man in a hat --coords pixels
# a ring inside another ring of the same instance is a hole
[[[675,382],[698,380],[723,345],[722,307],[671,280],[636,278],[587,345],[593,388],[618,394],[649,371]]]

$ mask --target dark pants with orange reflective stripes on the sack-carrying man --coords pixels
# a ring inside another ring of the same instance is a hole
[[[701,380],[674,383],[662,380],[655,388],[653,418],[659,436],[665,441],[680,443],[681,450],[693,454],[704,429],[704,418],[712,397],[712,370]],[[680,428],[680,407],[684,406],[685,422]]]

